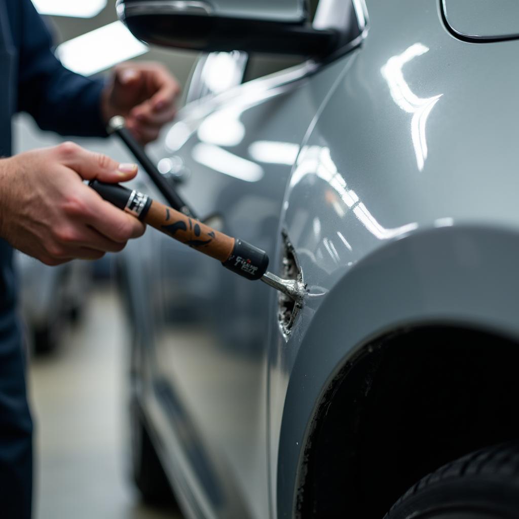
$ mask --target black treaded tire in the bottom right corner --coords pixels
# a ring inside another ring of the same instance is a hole
[[[385,519],[517,519],[519,443],[478,450],[424,477]]]

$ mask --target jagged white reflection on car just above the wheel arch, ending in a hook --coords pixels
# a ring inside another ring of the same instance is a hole
[[[326,201],[331,204],[339,217],[346,215],[348,210],[353,211],[359,222],[379,240],[396,238],[418,228],[417,223],[390,229],[382,226],[366,208],[357,193],[348,189],[346,181],[337,170],[330,149],[327,147],[308,146],[303,148],[290,180],[290,187],[293,188],[307,175],[315,175],[330,186],[331,190],[329,194],[326,194]],[[337,198],[334,193],[338,195]]]

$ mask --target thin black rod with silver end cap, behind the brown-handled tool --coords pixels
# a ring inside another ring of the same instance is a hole
[[[144,148],[133,138],[125,125],[124,117],[116,116],[110,119],[107,128],[108,133],[115,133],[122,142],[126,144],[130,152],[137,159],[144,171],[152,179],[163,197],[171,204],[171,207],[186,214],[191,218],[196,218],[193,210],[182,200],[180,195],[162,176],[152,160],[148,157]]]

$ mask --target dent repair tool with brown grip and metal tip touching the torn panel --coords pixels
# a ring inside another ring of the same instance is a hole
[[[98,180],[91,181],[89,186],[114,206],[175,240],[215,258],[235,274],[250,280],[261,279],[296,302],[305,296],[306,290],[302,283],[281,279],[267,272],[268,255],[254,245],[220,233],[136,190]]]

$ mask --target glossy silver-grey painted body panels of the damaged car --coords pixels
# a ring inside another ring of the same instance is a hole
[[[374,338],[519,338],[519,42],[457,39],[440,2],[366,7],[361,45],[190,103],[152,149],[275,274],[285,233],[309,290],[286,340],[265,285],[153,231],[129,245],[135,390],[190,517],[294,517],[313,417]]]

